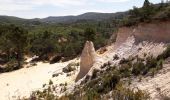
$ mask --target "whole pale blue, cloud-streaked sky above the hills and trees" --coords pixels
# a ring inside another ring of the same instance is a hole
[[[158,3],[161,0],[150,0]],[[86,12],[112,13],[141,7],[144,0],[0,0],[0,15],[21,18],[79,15]]]

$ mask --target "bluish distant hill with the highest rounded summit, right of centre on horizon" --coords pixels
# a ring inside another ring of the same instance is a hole
[[[102,20],[111,19],[111,18],[119,19],[125,15],[126,13],[124,12],[118,12],[118,13],[89,12],[89,13],[84,13],[78,16],[47,17],[47,18],[41,19],[40,21],[48,22],[48,23],[71,23],[71,22],[76,22],[79,20],[102,21]]]

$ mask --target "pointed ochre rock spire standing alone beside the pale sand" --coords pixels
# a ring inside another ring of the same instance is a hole
[[[83,78],[91,69],[96,60],[96,52],[93,42],[87,41],[80,58],[80,72],[76,78],[76,81]]]

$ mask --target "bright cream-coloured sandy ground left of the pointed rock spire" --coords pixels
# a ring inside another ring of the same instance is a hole
[[[0,100],[16,100],[28,97],[32,91],[42,89],[51,79],[54,84],[73,84],[76,75],[66,77],[66,74],[52,78],[54,73],[62,72],[62,68],[76,59],[56,64],[37,63],[37,66],[22,68],[17,71],[0,74]],[[77,74],[78,72],[76,72]]]

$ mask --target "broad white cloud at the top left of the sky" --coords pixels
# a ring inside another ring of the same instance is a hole
[[[0,11],[25,11],[43,5],[81,6],[87,0],[0,0]]]

